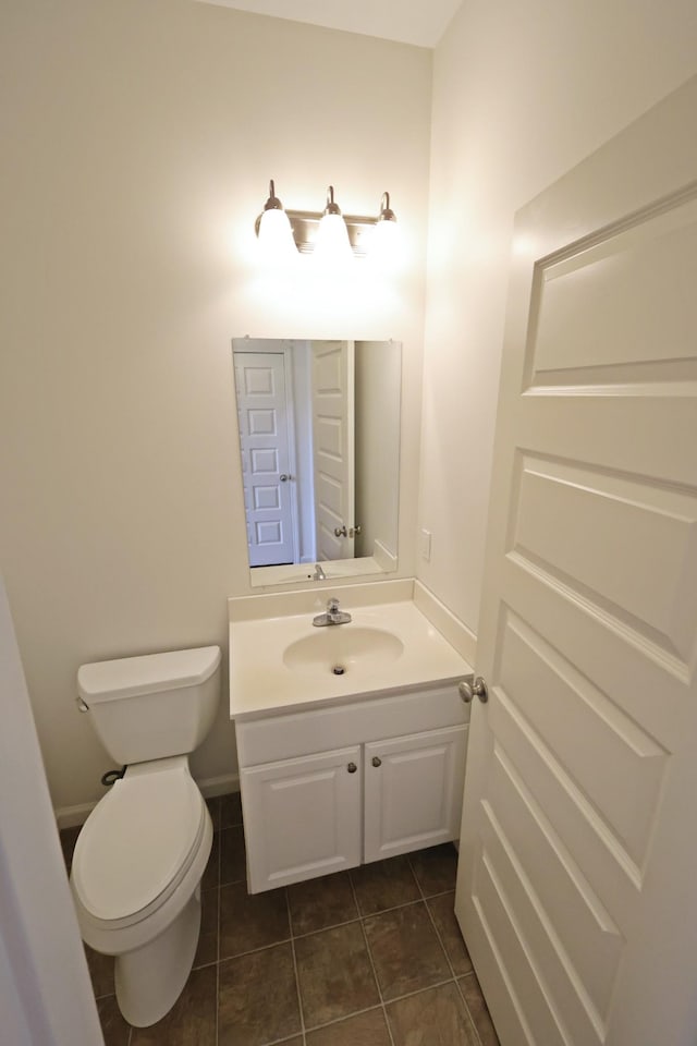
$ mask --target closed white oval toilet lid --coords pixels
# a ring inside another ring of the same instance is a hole
[[[205,810],[182,767],[118,780],[75,847],[73,884],[87,911],[120,920],[151,904],[191,863]]]

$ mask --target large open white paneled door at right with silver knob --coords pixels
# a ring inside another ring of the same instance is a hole
[[[696,126],[516,226],[456,895],[502,1046],[697,1034]]]

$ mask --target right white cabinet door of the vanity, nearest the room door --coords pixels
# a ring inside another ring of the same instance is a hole
[[[365,745],[365,861],[457,836],[465,726]]]

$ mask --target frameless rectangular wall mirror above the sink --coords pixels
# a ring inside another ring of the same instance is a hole
[[[232,351],[252,584],[396,570],[401,345]]]

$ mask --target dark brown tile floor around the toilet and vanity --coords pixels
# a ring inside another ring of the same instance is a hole
[[[453,914],[450,844],[250,897],[239,794],[216,835],[198,952],[174,1008],[131,1027],[87,949],[106,1046],[498,1046]],[[61,834],[70,867],[78,829]]]

